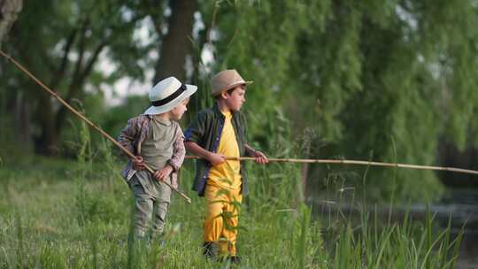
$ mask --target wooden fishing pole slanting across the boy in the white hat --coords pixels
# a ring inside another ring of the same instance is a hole
[[[76,116],[78,116],[80,119],[82,119],[83,121],[85,121],[90,127],[93,127],[96,131],[98,131],[101,135],[103,135],[104,137],[106,137],[109,141],[111,141],[115,146],[119,147],[120,150],[122,150],[126,155],[127,157],[131,158],[131,159],[136,159],[135,155],[133,155],[133,153],[129,152],[129,150],[127,150],[127,148],[123,147],[119,142],[117,142],[114,138],[112,138],[111,135],[108,135],[106,132],[104,132],[103,129],[101,129],[100,127],[97,127],[96,124],[94,124],[93,122],[91,122],[91,120],[89,120],[88,118],[86,118],[83,114],[81,114],[79,111],[76,111],[70,104],[66,103],[65,100],[63,100],[60,96],[58,96],[58,94],[56,92],[54,92],[53,90],[51,90],[50,88],[46,87],[42,81],[38,80],[32,73],[29,73],[27,68],[23,67],[22,65],[20,65],[17,61],[15,61],[13,58],[11,58],[9,55],[7,55],[6,53],[4,53],[4,51],[0,50],[0,54],[6,58],[7,60],[11,61],[13,63],[13,65],[17,66],[19,68],[20,71],[22,71],[23,73],[26,73],[27,76],[34,80],[36,83],[38,83],[40,86],[42,86],[43,89],[45,89],[46,91],[48,91],[50,93],[50,95],[54,96],[55,98],[57,98],[58,102],[65,105],[66,108],[69,110],[69,111],[72,111],[73,114],[75,114]],[[146,168],[146,170],[148,172],[150,172],[151,174],[154,174],[154,170],[150,168],[150,166],[144,164],[144,168]],[[169,184],[168,182],[166,181],[160,181],[161,183],[164,183],[166,184],[167,187],[173,189],[173,191],[175,193],[177,193],[178,195],[180,195],[182,198],[184,198],[186,200],[186,202],[188,202],[189,204],[191,203],[191,199],[186,196],[185,194],[181,193],[181,191],[179,191],[177,188],[173,188],[173,186],[171,186],[171,184]]]

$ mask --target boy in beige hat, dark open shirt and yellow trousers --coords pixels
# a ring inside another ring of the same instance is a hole
[[[197,160],[193,189],[206,200],[204,256],[227,257],[232,263],[240,261],[235,248],[238,213],[248,185],[244,166],[225,157],[249,156],[259,164],[268,162],[246,142],[246,121],[240,110],[251,83],[235,70],[216,74],[212,77],[215,104],[200,111],[185,132],[186,149],[202,158]]]

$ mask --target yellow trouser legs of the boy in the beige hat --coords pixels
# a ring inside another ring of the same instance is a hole
[[[235,239],[239,220],[240,204],[243,201],[241,188],[225,189],[209,181],[204,191],[206,217],[204,219],[204,242],[217,242],[221,255],[235,256]]]

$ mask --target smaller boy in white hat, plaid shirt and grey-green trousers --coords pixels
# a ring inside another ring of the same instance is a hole
[[[135,154],[128,160],[123,176],[135,196],[136,238],[143,239],[149,230],[150,238],[158,239],[163,233],[166,212],[170,203],[171,188],[160,181],[178,187],[177,171],[182,165],[186,150],[184,136],[176,122],[182,118],[197,86],[181,83],[174,77],[159,81],[150,89],[151,106],[142,115],[127,121],[118,142]],[[144,170],[149,165],[156,173]],[[154,214],[153,214],[154,213]]]

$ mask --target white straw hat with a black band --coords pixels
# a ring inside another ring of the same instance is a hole
[[[159,81],[150,89],[149,109],[144,111],[145,115],[156,115],[171,111],[182,100],[192,96],[197,90],[197,86],[182,84],[174,77]]]

